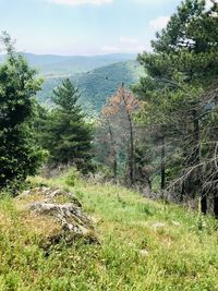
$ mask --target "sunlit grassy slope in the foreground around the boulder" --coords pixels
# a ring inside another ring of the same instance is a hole
[[[26,228],[12,198],[0,201],[0,290],[218,290],[217,221],[155,203],[110,184],[32,179],[71,190],[92,217],[101,245],[82,241],[50,250]],[[199,230],[202,229],[202,230]],[[43,234],[44,234],[43,233]]]

